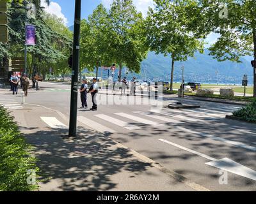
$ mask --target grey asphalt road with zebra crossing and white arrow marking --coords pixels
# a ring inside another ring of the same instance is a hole
[[[68,118],[70,87],[56,83],[42,83],[41,87],[26,103],[52,108]],[[92,106],[90,96],[88,101]],[[99,94],[99,110],[78,110],[78,124],[108,135],[211,191],[255,191],[256,126],[225,119],[241,106],[185,100],[202,107],[166,108],[175,101],[177,98],[164,97],[163,103],[157,102],[159,107],[156,101],[139,96]],[[68,120],[58,124],[58,119],[44,113],[35,117],[43,117],[40,119],[49,126],[68,125]]]

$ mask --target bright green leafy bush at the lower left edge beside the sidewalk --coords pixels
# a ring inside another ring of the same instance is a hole
[[[0,191],[34,191],[38,185],[27,183],[28,170],[38,168],[31,147],[25,142],[13,117],[0,106]]]

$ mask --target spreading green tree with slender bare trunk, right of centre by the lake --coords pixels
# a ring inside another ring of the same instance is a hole
[[[175,61],[186,61],[199,50],[204,52],[204,42],[188,29],[186,18],[186,0],[154,0],[156,8],[148,11],[146,22],[147,41],[156,54],[162,53],[172,57],[171,85],[173,91],[173,73]]]

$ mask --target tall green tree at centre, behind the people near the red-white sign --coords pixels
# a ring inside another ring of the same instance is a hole
[[[109,49],[119,66],[119,81],[125,64],[131,71],[140,72],[141,61],[147,56],[143,17],[136,11],[132,0],[114,0],[109,11]]]

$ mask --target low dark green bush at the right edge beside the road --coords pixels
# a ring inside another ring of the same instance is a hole
[[[234,112],[233,115],[248,122],[256,122],[256,99],[241,110]]]

